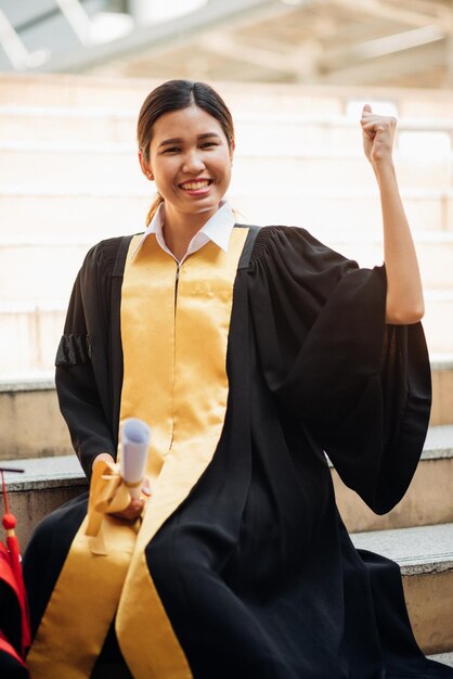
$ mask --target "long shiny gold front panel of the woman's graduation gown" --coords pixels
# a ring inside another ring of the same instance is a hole
[[[233,230],[228,254],[205,245],[183,262],[178,281],[176,261],[154,235],[134,257],[138,236],[131,241],[121,289],[120,420],[141,418],[153,428],[152,496],[138,535],[103,518],[108,556],[92,553],[83,522],[28,656],[34,679],[49,671],[89,677],[116,608],[118,642],[135,679],[192,677],[144,550],[197,483],[221,436],[233,285],[247,233]]]

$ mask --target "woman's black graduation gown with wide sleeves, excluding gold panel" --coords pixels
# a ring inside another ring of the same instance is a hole
[[[59,348],[60,403],[88,475],[95,454],[117,447],[128,243],[88,254]],[[377,513],[415,471],[430,409],[427,350],[420,324],[385,325],[385,302],[383,267],[359,269],[302,229],[261,229],[240,267],[223,432],[146,549],[196,679],[453,677],[416,645],[398,566],[353,548],[323,452]],[[35,627],[85,512],[86,496],[30,541]]]

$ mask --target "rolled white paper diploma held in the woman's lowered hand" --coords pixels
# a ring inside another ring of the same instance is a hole
[[[129,486],[132,499],[140,498],[150,446],[151,428],[138,418],[121,424],[120,474]],[[131,485],[129,485],[131,484]]]

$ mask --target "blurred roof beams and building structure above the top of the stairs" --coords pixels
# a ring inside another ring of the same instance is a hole
[[[1,0],[0,71],[450,88],[451,0]]]

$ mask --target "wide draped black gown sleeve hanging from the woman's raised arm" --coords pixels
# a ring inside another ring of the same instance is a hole
[[[389,511],[429,421],[422,324],[386,325],[385,267],[361,269],[303,229],[262,229],[249,277],[261,367],[283,417],[312,434],[371,509]]]

